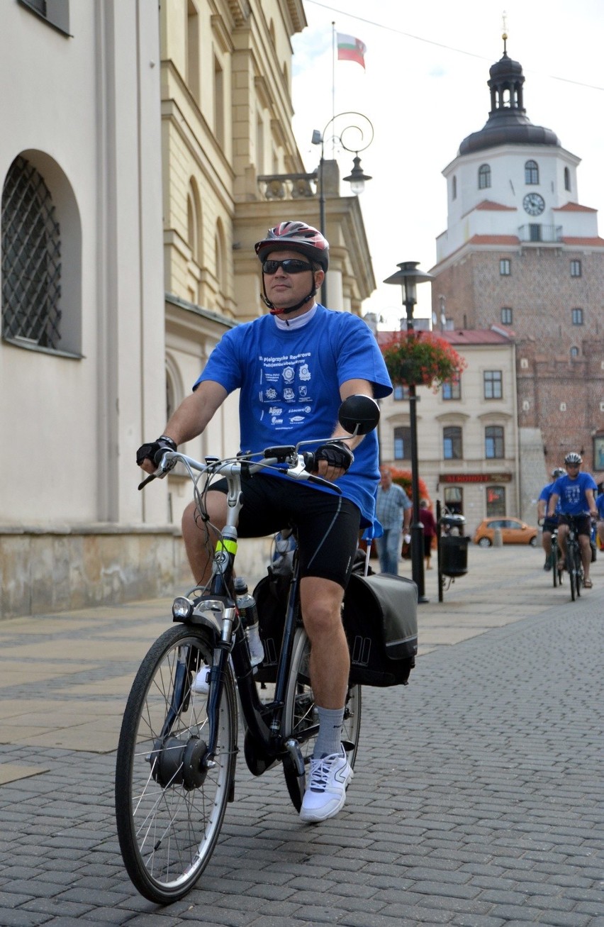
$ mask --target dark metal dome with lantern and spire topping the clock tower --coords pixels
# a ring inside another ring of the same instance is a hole
[[[494,148],[500,145],[547,145],[560,147],[560,139],[551,129],[533,125],[522,102],[524,75],[519,61],[512,61],[503,36],[503,57],[489,70],[491,111],[480,132],[464,138],[459,155]]]

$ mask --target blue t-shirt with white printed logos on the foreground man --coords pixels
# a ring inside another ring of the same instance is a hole
[[[302,327],[278,328],[271,315],[237,325],[212,351],[197,387],[204,380],[227,392],[241,390],[241,451],[262,451],[275,444],[314,440],[312,451],[333,434],[346,380],[368,380],[376,399],[392,392],[382,352],[371,329],[349,312],[318,306]],[[360,509],[361,525],[374,521],[380,480],[375,431],[355,448],[355,462],[337,485]],[[331,492],[314,483],[305,486]]]

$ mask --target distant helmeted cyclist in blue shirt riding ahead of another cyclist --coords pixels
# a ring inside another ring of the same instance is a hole
[[[589,578],[591,565],[591,519],[598,516],[598,509],[594,499],[594,492],[598,489],[596,480],[589,473],[581,472],[583,458],[581,454],[572,451],[564,458],[566,476],[560,476],[552,487],[552,493],[547,507],[547,516],[553,517],[556,506],[560,500],[560,525],[558,527],[558,541],[562,563],[566,561],[566,537],[568,535],[568,520],[566,515],[574,515],[581,545],[581,561],[583,563],[585,589],[591,589],[592,581]]]

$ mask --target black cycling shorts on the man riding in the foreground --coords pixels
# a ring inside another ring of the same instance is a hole
[[[209,490],[227,492],[226,479]],[[240,538],[264,538],[296,527],[301,577],[332,579],[346,589],[359,545],[360,512],[343,496],[279,476],[242,476]]]

